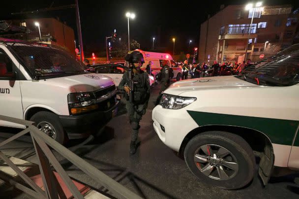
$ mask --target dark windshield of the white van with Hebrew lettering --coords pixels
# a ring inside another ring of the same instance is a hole
[[[26,43],[8,44],[7,47],[35,78],[86,73],[81,62],[77,62],[66,50],[58,47]]]

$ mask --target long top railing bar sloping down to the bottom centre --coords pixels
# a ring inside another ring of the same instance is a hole
[[[34,136],[37,135],[38,137],[40,137],[47,145],[49,145],[57,152],[59,152],[60,155],[62,155],[71,163],[73,163],[75,166],[77,166],[85,174],[88,174],[92,179],[94,179],[97,182],[100,182],[102,185],[108,188],[112,193],[116,194],[118,198],[142,199],[140,196],[130,191],[129,189],[127,189],[126,187],[124,187],[123,185],[121,185],[120,183],[118,183],[108,175],[99,171],[98,169],[90,165],[88,162],[80,158],[78,155],[76,155],[69,149],[66,149],[65,147],[60,145],[53,138],[49,137],[45,133],[42,133],[35,126],[31,125],[29,126],[29,128],[30,128],[30,133],[33,133]]]

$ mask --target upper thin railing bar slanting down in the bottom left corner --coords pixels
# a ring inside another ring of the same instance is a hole
[[[32,189],[34,189],[36,192],[40,193],[41,195],[45,196],[44,191],[39,188],[31,179],[30,177],[28,177],[24,172],[22,172],[16,165],[14,165],[14,163],[6,157],[6,155],[4,153],[2,153],[0,151],[0,158],[2,158],[2,160],[4,160],[4,162],[6,162],[6,164],[8,166],[10,166],[17,174],[19,174],[20,177],[22,177],[22,179],[27,182],[30,187]]]

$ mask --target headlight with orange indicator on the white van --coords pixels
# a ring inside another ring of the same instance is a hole
[[[98,108],[93,92],[70,93],[67,96],[67,102],[72,115],[86,113]]]

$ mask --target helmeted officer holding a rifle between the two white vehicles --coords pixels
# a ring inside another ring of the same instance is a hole
[[[133,51],[125,56],[125,60],[132,65],[132,79],[129,79],[129,72],[125,72],[119,84],[119,89],[125,91],[126,109],[129,114],[129,120],[132,127],[130,155],[136,153],[136,141],[138,138],[139,122],[146,113],[149,102],[149,75],[142,71],[140,67],[144,63],[142,54]],[[129,66],[131,67],[131,66]],[[133,83],[133,90],[131,84]],[[132,91],[132,92],[131,92]],[[133,98],[130,102],[130,96]]]

